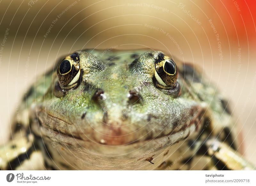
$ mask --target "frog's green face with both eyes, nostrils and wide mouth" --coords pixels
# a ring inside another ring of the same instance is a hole
[[[76,51],[60,61],[37,109],[43,133],[107,146],[163,136],[171,145],[198,133],[200,106],[171,58],[160,51],[104,52]]]

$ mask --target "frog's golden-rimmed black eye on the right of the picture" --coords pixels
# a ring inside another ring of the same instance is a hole
[[[162,89],[173,89],[178,78],[178,68],[175,62],[168,56],[158,55],[155,62],[156,84]]]

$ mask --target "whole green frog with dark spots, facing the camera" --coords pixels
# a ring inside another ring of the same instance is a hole
[[[60,57],[23,97],[1,170],[255,169],[229,102],[203,75],[160,50]]]

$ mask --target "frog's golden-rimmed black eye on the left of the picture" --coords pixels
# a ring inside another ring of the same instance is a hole
[[[63,59],[57,68],[60,87],[63,89],[75,87],[79,80],[80,73],[78,54],[75,53]]]

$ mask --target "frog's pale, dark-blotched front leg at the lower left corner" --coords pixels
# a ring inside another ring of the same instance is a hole
[[[1,170],[45,170],[42,152],[32,134],[20,130],[13,139],[0,146]]]

